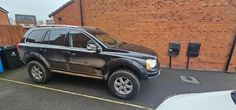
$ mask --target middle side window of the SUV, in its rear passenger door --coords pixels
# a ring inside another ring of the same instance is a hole
[[[53,30],[50,32],[49,44],[52,45],[63,45],[65,46],[65,37],[67,31],[65,30]]]

